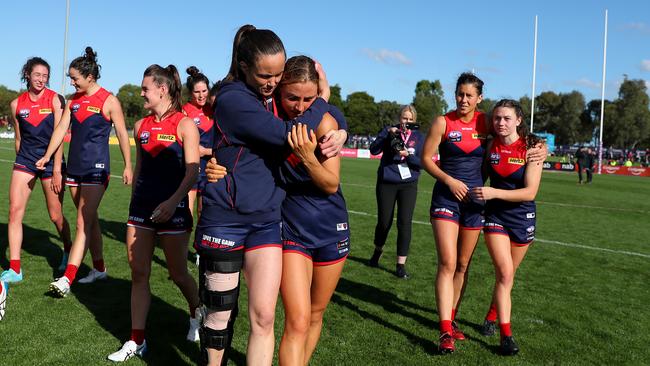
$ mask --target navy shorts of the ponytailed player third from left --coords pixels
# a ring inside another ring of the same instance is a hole
[[[155,231],[158,235],[183,234],[192,231],[192,214],[185,202],[181,202],[174,215],[167,222],[153,222],[151,215],[154,209],[142,209],[131,205],[127,226]]]

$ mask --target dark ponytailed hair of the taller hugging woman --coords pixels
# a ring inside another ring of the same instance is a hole
[[[282,52],[286,57],[284,45],[280,38],[268,29],[257,29],[247,24],[237,30],[232,44],[232,61],[224,81],[242,80],[244,74],[240,62],[249,67],[255,66],[257,59],[264,55],[276,55]]]

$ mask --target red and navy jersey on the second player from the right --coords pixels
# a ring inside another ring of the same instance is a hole
[[[487,135],[485,115],[474,112],[469,122],[463,122],[456,111],[445,115],[445,135],[440,141],[440,168],[468,185],[483,185],[481,165]]]

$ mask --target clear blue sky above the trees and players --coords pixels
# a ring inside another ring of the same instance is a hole
[[[600,98],[607,8],[606,97],[616,97],[624,74],[650,85],[650,1],[528,3],[72,0],[67,63],[93,46],[100,84],[114,92],[139,84],[152,63],[196,65],[216,80],[227,71],[237,28],[250,23],[274,30],[289,56],[321,61],[344,97],[367,91],[376,101],[408,103],[418,80],[439,79],[451,102],[456,77],[473,69],[486,97],[519,98],[531,94],[538,15],[537,94],[578,90],[589,101]],[[53,68],[50,86],[60,91],[65,0],[11,1],[2,13],[0,84],[20,88],[21,66],[41,56]]]

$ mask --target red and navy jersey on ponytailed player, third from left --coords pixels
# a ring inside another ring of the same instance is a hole
[[[153,115],[142,120],[136,134],[140,166],[131,205],[153,210],[181,185],[185,178],[185,158],[178,124],[183,118],[183,113],[176,112],[159,122]]]

